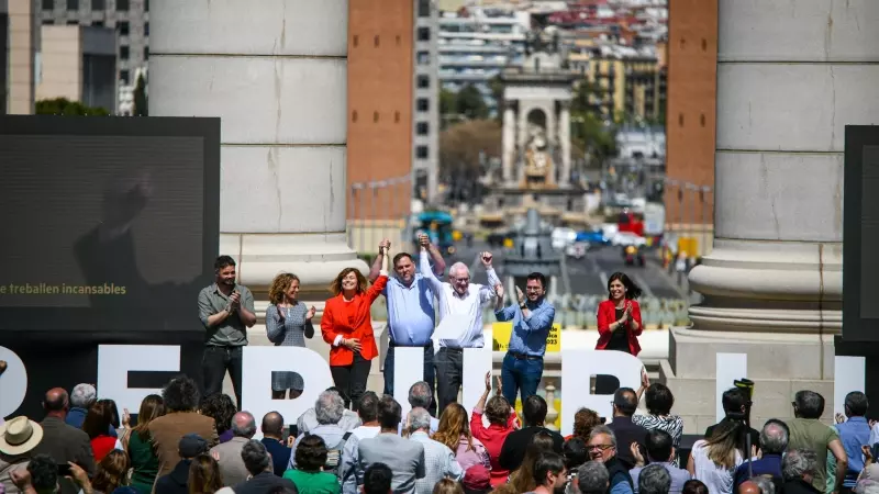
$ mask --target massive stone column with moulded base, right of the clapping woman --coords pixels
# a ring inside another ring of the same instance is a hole
[[[705,299],[672,329],[666,375],[689,434],[714,422],[715,352],[747,353],[754,424],[790,417],[802,389],[832,416],[844,131],[879,112],[875,7],[720,0],[714,250],[690,273]]]

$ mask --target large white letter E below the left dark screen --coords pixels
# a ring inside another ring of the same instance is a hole
[[[180,370],[180,347],[177,345],[99,345],[98,392],[112,396],[120,409],[136,413],[149,394],[160,389],[129,388],[129,371],[177,372]]]

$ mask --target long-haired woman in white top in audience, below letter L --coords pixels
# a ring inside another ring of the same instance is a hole
[[[712,494],[732,494],[733,473],[746,458],[738,449],[745,433],[744,420],[721,423],[709,439],[700,439],[690,450],[687,470],[708,485]],[[752,452],[756,453],[757,446]]]

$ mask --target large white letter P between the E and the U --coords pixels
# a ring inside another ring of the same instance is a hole
[[[296,372],[302,377],[302,394],[296,400],[271,400],[271,372]],[[330,364],[314,350],[300,347],[244,347],[242,409],[259,424],[269,412],[278,412],[287,424],[314,406],[314,401],[333,385]],[[408,390],[408,389],[407,389]]]

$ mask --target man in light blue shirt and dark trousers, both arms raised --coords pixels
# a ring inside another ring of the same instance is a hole
[[[426,248],[433,261],[433,272],[442,277],[446,271],[446,261],[436,247],[431,244],[427,235],[419,235],[419,245]],[[375,282],[385,262],[386,254],[391,248],[389,239],[383,239],[378,246],[379,254],[369,271],[369,281]],[[415,261],[408,252],[399,252],[391,261],[394,277],[388,279],[388,284],[381,291],[388,306],[388,351],[385,355],[385,394],[393,396],[393,349],[397,347],[424,349],[424,382],[430,386],[431,403],[426,406],[432,415],[436,414],[436,403],[433,401],[433,383],[435,381],[433,368],[433,336],[436,327],[436,310],[434,297],[431,294],[427,280],[415,272]],[[413,405],[414,406],[414,405]],[[442,412],[442,409],[441,409]]]

